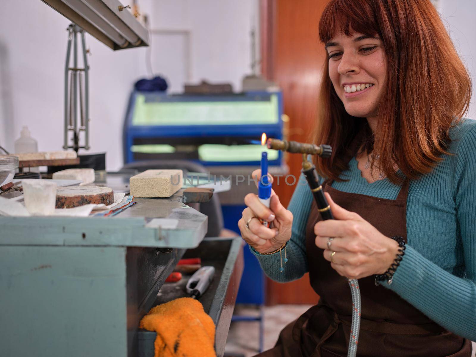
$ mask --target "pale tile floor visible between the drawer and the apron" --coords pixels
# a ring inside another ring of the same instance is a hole
[[[263,307],[265,316],[264,325],[264,349],[267,350],[274,346],[278,339],[279,332],[289,322],[295,320],[304,313],[310,305],[276,305]],[[258,316],[259,311],[256,307],[237,305],[236,315]],[[225,357],[243,356],[251,357],[258,353],[259,345],[259,323],[258,321],[240,321],[233,322],[228,332],[227,347]],[[476,344],[473,342],[473,353],[476,353]]]

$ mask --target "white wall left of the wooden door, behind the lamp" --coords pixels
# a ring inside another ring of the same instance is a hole
[[[152,29],[190,32],[190,79],[230,82],[241,89],[250,72],[252,19],[258,0],[139,0]],[[0,145],[13,151],[28,125],[40,151],[63,138],[63,68],[69,21],[40,0],[3,1],[0,11]],[[107,169],[122,166],[122,125],[133,83],[148,75],[145,48],[112,51],[87,35],[90,65],[89,152],[107,151]],[[187,79],[181,35],[153,35],[155,73],[172,92]]]

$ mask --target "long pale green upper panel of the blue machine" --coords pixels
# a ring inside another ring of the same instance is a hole
[[[238,125],[278,123],[278,96],[268,101],[146,101],[136,97],[132,125]]]

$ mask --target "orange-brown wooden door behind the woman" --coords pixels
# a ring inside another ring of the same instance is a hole
[[[262,0],[262,73],[283,91],[284,113],[288,115],[289,140],[310,141],[317,116],[317,93],[326,60],[319,42],[319,19],[328,0]],[[300,155],[287,155],[290,174],[299,177]],[[288,180],[290,182],[292,180]],[[273,186],[287,207],[294,186]],[[277,267],[278,268],[278,267]],[[306,274],[287,284],[267,281],[267,304],[315,304],[319,297]]]

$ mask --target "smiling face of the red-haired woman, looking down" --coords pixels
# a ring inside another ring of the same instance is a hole
[[[326,44],[329,77],[347,113],[375,118],[387,77],[383,42],[361,33],[333,37]]]

